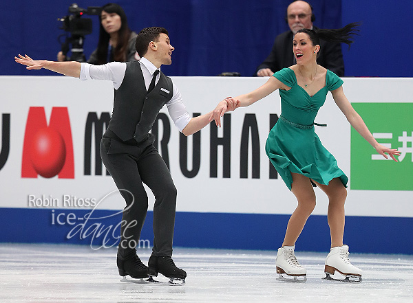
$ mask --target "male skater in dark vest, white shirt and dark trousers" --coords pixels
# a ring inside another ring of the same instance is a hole
[[[158,273],[183,280],[187,273],[176,267],[172,256],[175,225],[176,188],[171,174],[153,146],[149,133],[162,106],[184,135],[191,135],[209,124],[211,112],[189,117],[180,92],[171,78],[160,72],[161,65],[171,64],[174,47],[163,27],[148,27],[136,37],[138,62],[112,62],[90,65],[78,62],[32,60],[14,57],[27,69],[49,69],[81,80],[111,80],[114,85],[113,115],[100,142],[100,155],[116,186],[126,201],[118,245],[117,265],[120,276],[147,278]],[[232,102],[232,103],[231,103]],[[229,111],[236,104],[229,100]],[[153,249],[148,267],[136,256],[142,225],[148,207],[145,183],[155,195],[153,207]]]

